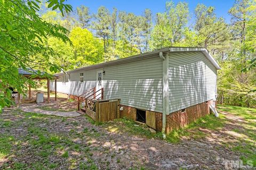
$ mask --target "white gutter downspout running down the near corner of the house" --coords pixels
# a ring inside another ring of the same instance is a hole
[[[167,62],[168,62],[168,58],[166,60],[166,57],[163,56],[163,52],[159,52],[159,57],[162,59],[163,61],[163,92],[162,92],[162,110],[163,110],[163,118],[162,118],[162,133],[163,133],[163,139],[166,138],[165,135],[165,127],[166,127],[166,114],[167,114],[167,107],[169,107],[169,105],[166,105],[167,101],[167,94],[169,91],[167,91],[169,89],[169,84],[168,84],[168,78],[167,78]],[[167,78],[167,79],[166,79]]]

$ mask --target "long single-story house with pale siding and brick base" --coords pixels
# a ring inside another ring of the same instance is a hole
[[[168,47],[56,74],[57,91],[103,88],[103,99],[121,99],[121,117],[169,133],[210,113],[219,69],[205,48]]]

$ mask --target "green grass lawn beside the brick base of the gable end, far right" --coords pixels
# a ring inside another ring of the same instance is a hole
[[[200,118],[186,128],[172,131],[166,141],[177,143],[182,139],[211,138],[212,133],[219,132],[218,142],[241,153],[245,164],[250,160],[256,166],[256,109],[218,105],[218,111],[220,117],[211,114]]]

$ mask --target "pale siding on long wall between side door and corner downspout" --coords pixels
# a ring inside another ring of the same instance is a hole
[[[162,112],[162,60],[158,56],[103,67],[104,98],[121,104]]]

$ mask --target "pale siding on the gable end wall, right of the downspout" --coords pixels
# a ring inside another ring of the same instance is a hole
[[[217,75],[201,52],[169,54],[169,112],[215,99]]]

